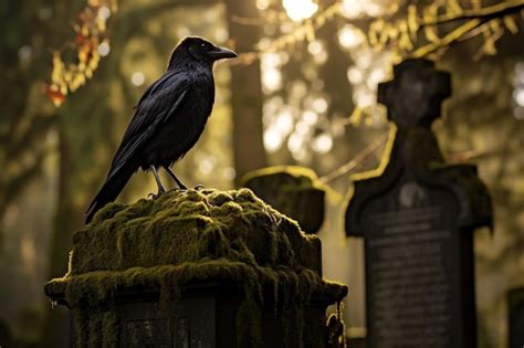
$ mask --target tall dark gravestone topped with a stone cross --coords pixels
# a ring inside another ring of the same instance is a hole
[[[444,162],[431,130],[450,94],[427,60],[378,87],[396,127],[346,211],[346,234],[364,238],[370,348],[476,345],[472,233],[491,225],[491,199],[474,166]]]

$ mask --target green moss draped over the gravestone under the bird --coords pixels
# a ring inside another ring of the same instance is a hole
[[[290,314],[283,318],[287,330],[302,335],[314,294],[336,300],[347,292],[321,278],[318,239],[248,189],[171,191],[133,205],[109,204],[73,242],[67,274],[48,283],[45,293],[63,294],[74,308],[80,346],[116,345],[119,292],[156,289],[161,310],[172,314],[187,285],[237,285],[244,298],[239,346],[260,342],[265,294],[275,310]]]

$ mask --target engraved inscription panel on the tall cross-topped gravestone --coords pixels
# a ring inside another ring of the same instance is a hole
[[[444,347],[451,303],[443,245],[451,232],[441,223],[442,208],[423,207],[423,190],[405,187],[401,210],[370,217],[375,233],[367,240],[373,255],[367,266],[375,345]]]

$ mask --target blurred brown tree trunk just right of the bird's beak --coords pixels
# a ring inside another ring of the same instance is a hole
[[[235,17],[258,18],[254,1],[227,0],[230,36],[237,52],[249,52],[260,39],[260,27],[241,25]],[[231,68],[231,106],[233,110],[233,160],[238,184],[248,171],[266,166],[262,126],[262,85],[260,64]]]

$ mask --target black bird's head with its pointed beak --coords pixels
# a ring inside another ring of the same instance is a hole
[[[237,53],[233,51],[217,46],[202,38],[189,36],[175,48],[168,67],[177,66],[188,60],[212,65],[218,60],[235,56]]]

